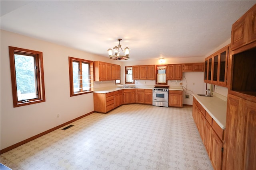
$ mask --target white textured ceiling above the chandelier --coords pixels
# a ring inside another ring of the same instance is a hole
[[[1,29],[108,57],[201,57],[230,39],[256,1],[4,1]]]

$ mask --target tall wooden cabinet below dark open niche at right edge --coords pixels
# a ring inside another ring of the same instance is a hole
[[[256,103],[228,94],[224,168],[256,168]]]

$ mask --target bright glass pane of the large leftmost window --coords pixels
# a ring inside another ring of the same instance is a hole
[[[35,57],[14,54],[18,101],[38,98]]]

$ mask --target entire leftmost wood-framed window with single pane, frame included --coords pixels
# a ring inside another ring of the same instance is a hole
[[[45,102],[43,53],[9,46],[13,107]]]

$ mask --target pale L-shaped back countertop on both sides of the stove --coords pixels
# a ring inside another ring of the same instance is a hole
[[[115,91],[123,90],[123,89],[150,89],[150,90],[152,90],[153,88],[154,88],[154,86],[131,86],[129,88],[122,88],[122,87],[118,87],[118,86],[113,86],[113,87],[94,89],[94,93],[110,93],[110,92],[115,92]],[[180,87],[180,86],[170,86],[169,90],[183,91],[183,88]]]

